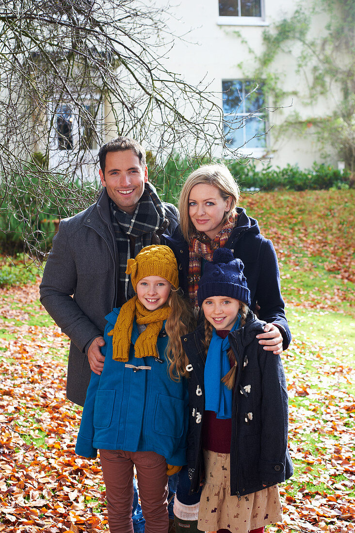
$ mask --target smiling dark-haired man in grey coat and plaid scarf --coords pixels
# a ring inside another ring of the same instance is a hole
[[[104,367],[105,316],[134,295],[127,260],[179,222],[176,207],[148,183],[145,151],[135,140],[107,142],[99,161],[104,189],[88,209],[61,221],[40,285],[42,304],[70,338],[67,398],[81,406],[91,370],[101,374]],[[145,522],[139,509],[137,532]]]

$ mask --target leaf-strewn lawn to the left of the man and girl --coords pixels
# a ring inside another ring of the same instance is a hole
[[[38,305],[38,284],[1,300],[0,531],[104,529],[99,464],[74,453],[81,409],[65,397],[68,340]]]

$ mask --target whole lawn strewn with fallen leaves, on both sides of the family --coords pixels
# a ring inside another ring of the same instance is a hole
[[[355,531],[350,193],[336,198],[337,193],[329,192],[321,197],[270,193],[248,198],[256,211],[256,197],[260,202],[262,230],[281,258],[294,334],[283,361],[295,475],[281,486],[285,520],[269,532]],[[342,222],[327,219],[330,204]],[[305,217],[309,225],[303,224]],[[309,291],[309,284],[317,287]],[[65,398],[68,340],[41,309],[38,282],[0,290],[0,305],[0,531],[105,530],[99,462],[74,453],[81,409]]]

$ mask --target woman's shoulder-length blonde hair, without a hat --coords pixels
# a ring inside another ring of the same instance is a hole
[[[238,183],[225,165],[202,165],[200,168],[193,171],[187,177],[183,188],[180,192],[179,212],[180,212],[180,228],[183,232],[184,238],[187,242],[190,241],[192,235],[195,233],[195,227],[191,222],[188,214],[188,202],[190,198],[191,189],[199,183],[207,183],[218,189],[220,196],[224,200],[232,197],[229,211],[224,214],[224,222],[228,220],[231,215],[236,213],[236,206],[239,200]]]

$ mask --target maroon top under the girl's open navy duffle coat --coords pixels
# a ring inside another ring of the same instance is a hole
[[[227,329],[216,330],[219,337],[225,338]],[[231,364],[231,368],[234,363]],[[215,411],[204,411],[202,424],[202,448],[218,451],[220,454],[231,453],[232,418],[216,418]]]

